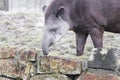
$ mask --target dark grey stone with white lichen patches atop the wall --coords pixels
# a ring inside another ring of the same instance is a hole
[[[115,70],[117,68],[116,49],[108,49],[108,52],[102,54],[102,49],[94,51],[94,60],[88,61],[89,68]]]

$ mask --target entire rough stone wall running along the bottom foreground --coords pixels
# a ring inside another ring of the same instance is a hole
[[[118,49],[90,57],[40,56],[35,49],[0,48],[0,80],[120,80]]]

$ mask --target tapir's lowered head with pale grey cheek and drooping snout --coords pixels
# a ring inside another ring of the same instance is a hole
[[[69,30],[67,17],[64,6],[49,6],[45,11],[45,26],[42,37],[44,55],[48,55],[49,47],[55,44]]]

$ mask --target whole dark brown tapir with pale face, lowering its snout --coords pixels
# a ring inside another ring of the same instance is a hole
[[[102,48],[104,31],[120,33],[120,0],[52,0],[44,13],[44,55],[68,30],[75,32],[77,56],[83,55],[88,35]]]

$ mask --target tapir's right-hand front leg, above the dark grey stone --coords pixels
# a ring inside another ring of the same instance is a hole
[[[104,33],[104,29],[94,28],[93,30],[91,30],[90,36],[92,38],[95,48],[103,47],[103,33]]]

